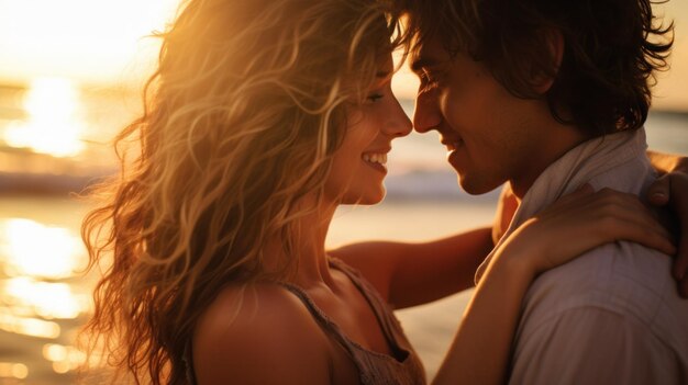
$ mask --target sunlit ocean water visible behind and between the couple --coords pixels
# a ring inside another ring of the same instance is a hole
[[[91,90],[70,97],[71,115],[49,110],[41,116],[41,109],[21,105],[26,92],[0,89],[0,385],[69,384],[85,359],[74,340],[91,312],[93,276],[78,273],[86,263],[79,226],[88,207],[68,192],[114,170],[107,141],[137,107],[130,97]],[[402,103],[411,113],[412,102]],[[74,140],[62,143],[60,137],[69,135],[51,136],[58,125],[42,126],[46,117],[80,131],[67,129]],[[13,147],[8,133],[22,126],[52,139],[37,149]],[[687,114],[652,112],[646,128],[651,148],[688,154]],[[76,155],[55,156],[49,155],[49,141],[60,143],[57,150],[79,144],[82,148]],[[411,134],[393,146],[388,199],[376,206],[341,207],[329,234],[330,247],[365,239],[422,241],[490,224],[497,194],[463,193],[436,135]],[[430,377],[469,296],[467,291],[398,312]]]

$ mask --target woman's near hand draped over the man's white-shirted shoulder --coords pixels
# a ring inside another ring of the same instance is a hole
[[[622,239],[667,254],[676,252],[670,234],[635,195],[610,189],[593,192],[586,184],[522,224],[496,257],[522,253],[519,264],[523,267],[525,260],[525,267],[536,275],[587,250]]]

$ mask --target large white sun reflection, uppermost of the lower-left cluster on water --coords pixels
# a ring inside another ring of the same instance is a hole
[[[0,222],[0,262],[10,276],[67,278],[84,267],[84,252],[80,238],[66,228],[21,218]]]

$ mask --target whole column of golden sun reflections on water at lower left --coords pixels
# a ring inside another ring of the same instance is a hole
[[[9,349],[9,356],[0,355],[0,384],[35,383],[45,372],[67,374],[85,362],[86,354],[70,343],[75,326],[91,310],[78,279],[86,262],[74,228],[0,218],[0,346]]]

